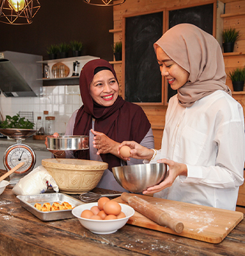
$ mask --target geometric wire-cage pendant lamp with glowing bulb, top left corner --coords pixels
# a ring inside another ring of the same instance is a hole
[[[31,24],[39,8],[38,0],[0,0],[0,22]]]

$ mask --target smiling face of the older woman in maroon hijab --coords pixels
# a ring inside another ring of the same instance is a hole
[[[94,75],[90,83],[90,95],[99,105],[109,107],[118,98],[119,86],[110,70],[104,69]]]

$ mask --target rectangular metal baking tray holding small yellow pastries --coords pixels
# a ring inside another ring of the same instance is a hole
[[[76,198],[71,196],[67,196],[63,193],[47,193],[47,194],[39,194],[39,195],[30,195],[30,196],[17,196],[18,200],[21,201],[21,207],[24,207],[26,210],[31,212],[36,217],[40,218],[41,221],[57,221],[63,220],[65,218],[74,218],[71,210],[60,210],[54,212],[41,212],[37,210],[34,205],[49,203],[53,204],[54,202],[63,203],[63,201],[71,204],[72,208],[79,206],[82,201],[79,201]]]

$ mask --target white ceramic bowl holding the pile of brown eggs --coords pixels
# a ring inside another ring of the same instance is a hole
[[[78,207],[75,207],[72,210],[72,214],[77,217],[80,221],[80,224],[84,226],[86,229],[89,229],[90,232],[96,234],[111,234],[116,232],[118,229],[123,227],[128,219],[135,214],[135,210],[132,207],[129,207],[127,204],[120,204],[121,211],[125,213],[126,218],[119,218],[116,220],[108,220],[108,221],[98,221],[98,220],[90,220],[88,218],[81,218],[81,213],[83,210],[90,210],[91,207],[97,206],[98,203],[90,203],[90,204],[81,204]]]

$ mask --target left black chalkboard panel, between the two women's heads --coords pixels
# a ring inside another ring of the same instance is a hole
[[[153,44],[163,35],[163,12],[125,19],[125,100],[162,103],[162,77]]]

